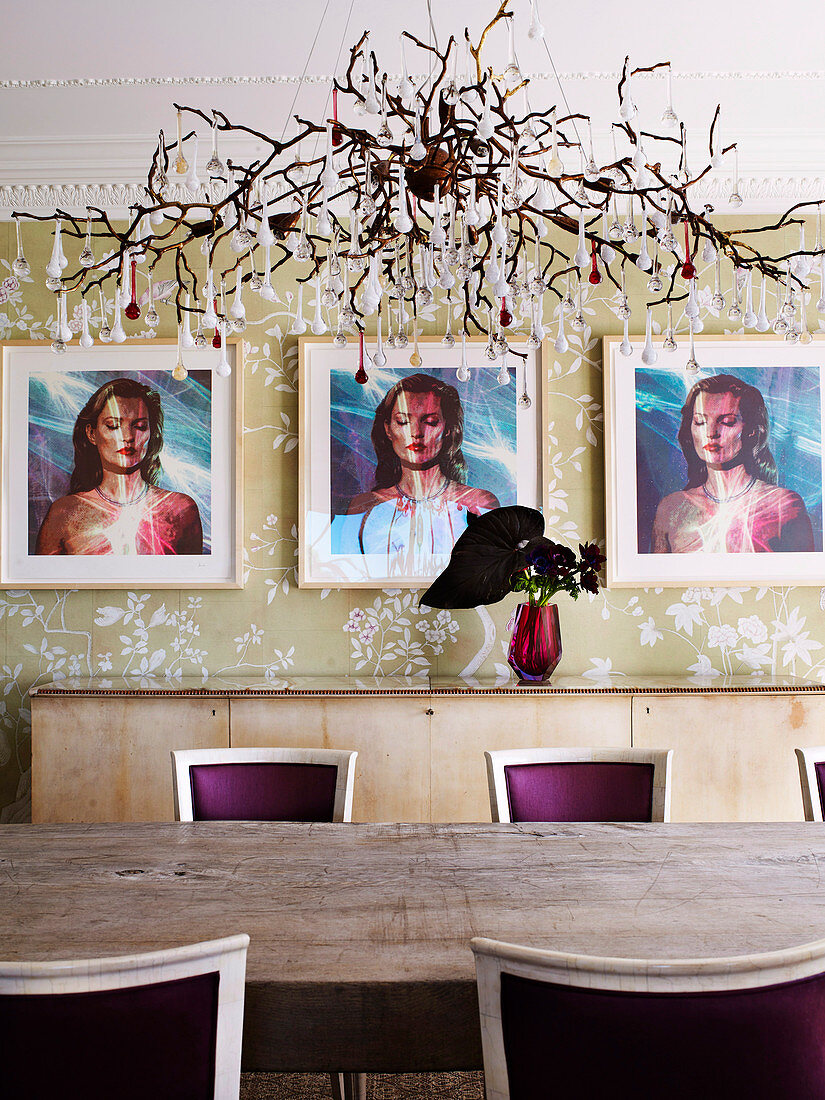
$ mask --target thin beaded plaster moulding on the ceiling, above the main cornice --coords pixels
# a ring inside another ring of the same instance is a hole
[[[530,80],[557,79],[576,82],[592,80],[616,81],[622,74],[614,69],[594,69],[572,73],[526,73]],[[427,79],[427,74],[411,74],[417,82]],[[400,74],[391,74],[391,80],[399,80]],[[634,79],[661,80],[659,73],[640,73]],[[735,72],[689,70],[673,72],[674,80],[823,80],[825,69],[738,69]],[[315,73],[306,76],[292,73],[275,73],[271,76],[108,76],[108,77],[73,77],[65,79],[34,80],[0,80],[0,91],[16,91],[21,89],[54,89],[54,88],[145,88],[145,87],[186,87],[212,86],[228,87],[232,85],[276,85],[276,84],[331,84],[331,74]]]

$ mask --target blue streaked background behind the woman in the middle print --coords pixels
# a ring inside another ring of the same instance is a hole
[[[516,504],[516,372],[499,386],[497,367],[473,370],[469,382],[457,382],[454,367],[385,367],[370,371],[365,386],[352,371],[330,372],[330,513],[346,513],[350,501],[373,487],[375,450],[372,431],[375,409],[400,378],[431,374],[455,386],[464,408],[462,451],[468,464],[466,483],[495,494],[504,505]]]

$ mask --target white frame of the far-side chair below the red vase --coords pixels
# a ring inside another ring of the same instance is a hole
[[[651,821],[670,821],[670,771],[673,749],[499,749],[484,754],[487,762],[490,812],[494,822],[509,822],[510,806],[504,769],[521,763],[652,763]]]

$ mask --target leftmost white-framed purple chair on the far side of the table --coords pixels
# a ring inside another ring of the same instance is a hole
[[[356,757],[338,749],[174,750],[175,820],[352,821]]]

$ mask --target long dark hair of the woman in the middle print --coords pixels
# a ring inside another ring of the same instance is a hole
[[[466,460],[461,450],[461,444],[464,442],[464,409],[459,392],[455,386],[433,378],[431,374],[410,374],[396,382],[375,410],[375,419],[370,433],[375,448],[375,484],[373,490],[388,488],[400,481],[402,464],[393,450],[385,428],[393,415],[393,406],[402,393],[431,393],[439,398],[444,418],[444,440],[438,457],[438,464],[446,477],[463,485],[466,479]]]

